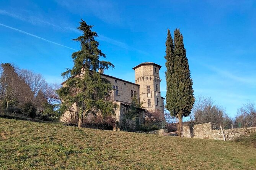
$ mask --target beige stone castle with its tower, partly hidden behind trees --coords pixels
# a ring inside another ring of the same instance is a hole
[[[115,111],[119,125],[122,124],[126,108],[130,105],[134,95],[139,102],[143,102],[143,109],[140,109],[140,119],[137,120],[137,123],[140,124],[145,121],[145,112],[164,113],[164,98],[161,97],[161,79],[159,76],[161,66],[152,62],[145,62],[132,69],[135,71],[135,83],[101,73],[101,76],[113,85],[114,90],[110,91],[109,94],[110,99],[119,106]],[[60,120],[70,122],[70,119],[72,119],[72,112],[66,111]],[[114,128],[114,130],[119,129],[119,127]]]

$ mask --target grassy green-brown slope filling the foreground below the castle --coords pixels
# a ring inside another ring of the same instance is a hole
[[[0,118],[0,169],[61,168],[255,169],[256,149]]]

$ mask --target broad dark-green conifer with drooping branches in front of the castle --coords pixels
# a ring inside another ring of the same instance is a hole
[[[91,30],[92,27],[83,20],[80,22],[78,30],[82,31],[83,35],[73,40],[80,42],[81,50],[72,54],[74,66],[62,73],[62,76],[68,79],[64,87],[57,91],[63,101],[62,111],[76,107],[78,127],[82,127],[86,115],[96,116],[97,113],[102,114],[103,117],[114,115],[117,107],[108,100],[108,93],[113,90],[111,83],[102,78],[98,72],[114,68],[114,65],[100,60],[106,58],[106,55],[98,49],[99,43],[95,40],[97,33]]]

